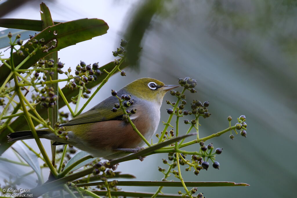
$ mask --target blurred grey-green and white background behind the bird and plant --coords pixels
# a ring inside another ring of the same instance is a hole
[[[15,2],[0,2],[1,18],[40,19],[41,1]],[[206,197],[296,197],[297,1],[44,2],[53,20],[99,18],[109,25],[107,34],[59,51],[66,67],[74,70],[80,60],[99,61],[100,66],[112,61],[111,52],[119,46],[120,39],[129,39],[132,46],[128,50],[133,52],[128,57],[132,66],[125,69],[127,76],[111,77],[86,110],[108,97],[110,89],[120,89],[140,77],[156,78],[166,84],[177,84],[178,77],[197,79],[198,92],[188,94],[188,104],[192,99],[209,100],[211,113],[210,118],[200,119],[200,137],[228,128],[229,115],[233,117],[233,125],[236,118],[246,115],[247,138],[238,134],[231,140],[226,133],[209,140],[207,143],[213,142],[214,148],[223,148],[223,153],[216,158],[220,170],[211,167],[200,171],[198,176],[182,172],[185,180],[250,184],[248,187],[198,188]],[[134,50],[138,46],[143,48],[140,53]],[[175,100],[170,94],[165,96],[165,100],[168,99]],[[168,105],[163,102],[163,121],[168,118],[166,108]],[[157,132],[162,129],[160,124]],[[180,131],[185,133],[187,129],[188,126],[181,123]],[[38,150],[34,141],[28,142]],[[50,151],[49,141],[42,142]],[[187,150],[197,151],[199,147],[193,145]],[[7,150],[1,157],[9,157],[11,152]],[[163,175],[158,166],[167,168],[162,158],[167,159],[167,155],[148,156],[143,162],[124,162],[117,171],[131,173],[137,180],[161,180]],[[26,172],[23,167],[0,163],[0,183],[9,175]],[[36,183],[29,182],[34,177],[29,175],[22,184],[35,187]],[[125,186],[122,189],[157,190],[156,187]],[[182,189],[164,188],[162,192],[175,194],[178,190]]]

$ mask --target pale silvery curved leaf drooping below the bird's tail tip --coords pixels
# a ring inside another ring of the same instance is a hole
[[[29,145],[28,143],[26,143]],[[31,147],[31,145],[29,145]],[[36,172],[37,178],[38,178],[38,183],[41,184],[42,182],[42,177],[41,177],[41,170],[40,170],[40,165],[38,162],[38,157],[33,153],[32,151],[29,150],[28,147],[26,147],[22,142],[18,141],[16,142],[15,146],[12,147],[12,149],[17,152],[21,158],[23,158],[27,164],[30,165],[30,167]]]

